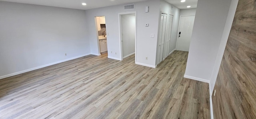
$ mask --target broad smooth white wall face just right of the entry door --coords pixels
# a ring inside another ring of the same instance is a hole
[[[185,77],[210,82],[231,0],[198,0]]]

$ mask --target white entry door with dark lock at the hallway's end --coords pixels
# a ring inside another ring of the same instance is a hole
[[[178,34],[178,51],[189,51],[190,39],[193,31],[195,16],[180,17],[180,31]]]

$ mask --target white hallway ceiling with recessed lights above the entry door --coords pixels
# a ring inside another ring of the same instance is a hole
[[[179,9],[188,9],[187,6],[191,6],[191,8],[196,8],[197,0],[186,0],[186,2],[180,2],[180,0],[165,0],[170,4],[176,6]]]

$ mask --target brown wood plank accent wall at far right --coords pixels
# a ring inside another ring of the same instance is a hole
[[[238,2],[214,90],[214,119],[256,119],[256,0]]]

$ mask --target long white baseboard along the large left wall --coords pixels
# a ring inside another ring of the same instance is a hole
[[[77,59],[77,58],[84,57],[84,56],[87,56],[87,55],[90,55],[90,53],[89,54],[85,54],[85,55],[80,55],[78,57],[73,57],[73,58],[70,58],[70,59],[65,59],[65,60],[61,60],[61,61],[58,61],[58,62],[53,62],[53,63],[50,63],[50,64],[38,66],[38,67],[35,67],[35,68],[30,68],[30,69],[23,70],[23,71],[20,71],[20,72],[15,72],[15,73],[12,73],[12,74],[7,74],[7,75],[4,75],[4,76],[0,76],[0,79],[11,77],[11,76],[15,76],[15,75],[22,74],[22,73],[25,73],[25,72],[30,72],[32,70],[37,70],[39,68],[44,68],[44,67],[47,67],[47,66],[51,66],[51,65],[58,64],[58,63],[61,63],[61,62],[66,62],[68,60]]]

